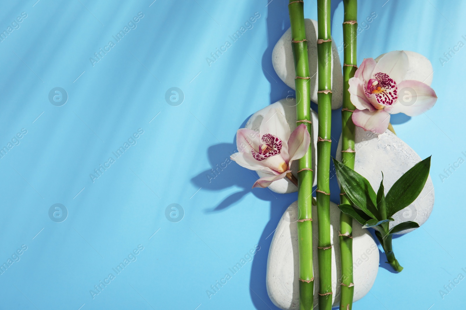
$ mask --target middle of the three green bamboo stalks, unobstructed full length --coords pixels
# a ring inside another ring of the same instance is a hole
[[[332,246],[330,240],[331,61],[330,0],[317,0],[319,130],[317,139],[317,217],[319,218],[319,310],[332,309]]]

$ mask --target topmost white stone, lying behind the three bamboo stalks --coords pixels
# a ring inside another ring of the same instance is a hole
[[[317,103],[317,21],[305,19],[306,40],[308,40],[308,58],[311,101]],[[332,39],[333,40],[333,39]],[[272,65],[275,72],[286,85],[295,89],[295,61],[291,47],[291,28],[289,28],[272,52]],[[336,44],[332,41],[332,110],[341,108],[343,103],[343,73]]]

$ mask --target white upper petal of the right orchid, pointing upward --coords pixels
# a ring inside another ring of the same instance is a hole
[[[386,73],[393,79],[397,84],[401,83],[408,72],[408,55],[403,51],[392,51],[386,53],[378,62],[377,66],[372,73],[374,74],[382,72]]]

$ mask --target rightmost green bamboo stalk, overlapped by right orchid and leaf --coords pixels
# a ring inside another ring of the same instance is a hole
[[[343,109],[342,109],[342,163],[354,169],[355,160],[355,125],[351,116],[355,106],[349,99],[348,81],[356,72],[356,30],[357,0],[343,0]],[[343,187],[340,194],[341,204],[351,204]],[[340,263],[341,263],[341,298],[340,310],[351,310],[353,307],[353,218],[340,213]]]

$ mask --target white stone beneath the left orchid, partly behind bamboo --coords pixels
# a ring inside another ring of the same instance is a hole
[[[264,119],[264,115],[266,115],[270,109],[278,109],[281,113],[283,113],[283,115],[285,116],[288,122],[288,125],[290,126],[290,132],[293,132],[295,130],[296,128],[296,100],[292,97],[281,99],[275,102],[274,104],[266,106],[265,108],[255,112],[253,115],[251,115],[245,127],[248,129],[259,131],[260,123]],[[311,112],[312,112],[311,114],[312,115],[312,128],[314,129],[314,128],[317,128],[317,125],[318,125],[317,113],[314,112],[312,109],[311,109]],[[316,171],[315,169],[315,163],[316,163],[316,158],[317,158],[317,147],[316,147],[317,131],[316,130],[312,130],[311,143],[312,145],[314,145],[312,148],[312,151],[313,151],[312,152],[312,164],[313,164],[312,170]],[[297,177],[297,174],[296,174],[296,172],[298,171],[297,160],[291,163],[291,171],[293,175]],[[267,176],[263,172],[260,172],[260,171],[256,171],[256,172],[259,175],[259,178],[263,178]],[[313,182],[314,182],[314,186],[317,185],[315,173],[313,173]],[[288,180],[288,178],[282,178],[280,180],[272,182],[272,184],[268,186],[268,189],[276,193],[279,193],[279,194],[287,194],[287,193],[298,191],[298,188],[293,183],[291,183],[291,181]]]

